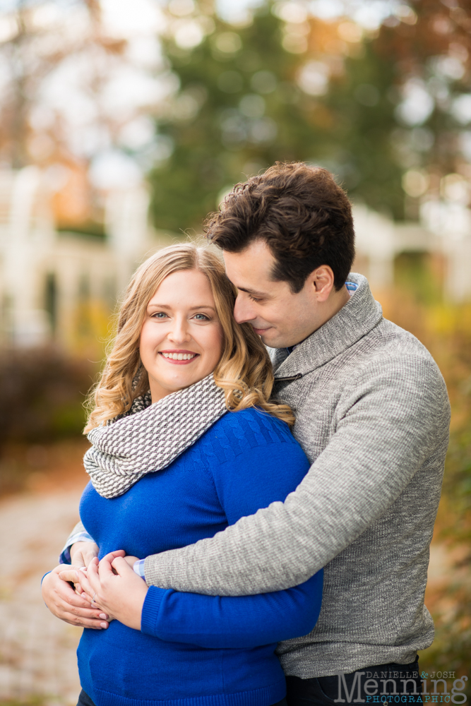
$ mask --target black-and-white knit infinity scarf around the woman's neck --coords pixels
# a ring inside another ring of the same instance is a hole
[[[213,373],[184,390],[150,401],[137,397],[129,412],[88,433],[83,458],[97,493],[117,498],[146,473],[169,465],[227,412],[225,393]]]

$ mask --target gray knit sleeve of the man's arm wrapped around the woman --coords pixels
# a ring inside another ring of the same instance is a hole
[[[297,586],[381,516],[448,438],[446,387],[426,358],[359,369],[335,414],[333,437],[285,502],[147,557],[148,585],[220,596]]]

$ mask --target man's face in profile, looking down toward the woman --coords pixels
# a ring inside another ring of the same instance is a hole
[[[298,294],[288,282],[271,278],[275,259],[265,241],[254,241],[240,253],[223,251],[223,256],[227,277],[239,290],[234,317],[251,323],[265,345],[296,345],[324,323],[311,277]]]

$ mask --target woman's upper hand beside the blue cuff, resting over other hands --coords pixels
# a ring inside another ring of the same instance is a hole
[[[118,552],[107,554],[100,563],[97,558],[93,559],[86,573],[78,572],[78,580],[83,591],[93,599],[91,605],[100,606],[129,628],[141,630],[141,613],[148,586],[123,556],[115,554]]]

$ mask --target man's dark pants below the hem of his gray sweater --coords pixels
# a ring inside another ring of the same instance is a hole
[[[378,664],[350,674],[300,679],[287,676],[288,706],[330,706],[347,703],[365,706],[421,702],[419,659],[411,664]]]

